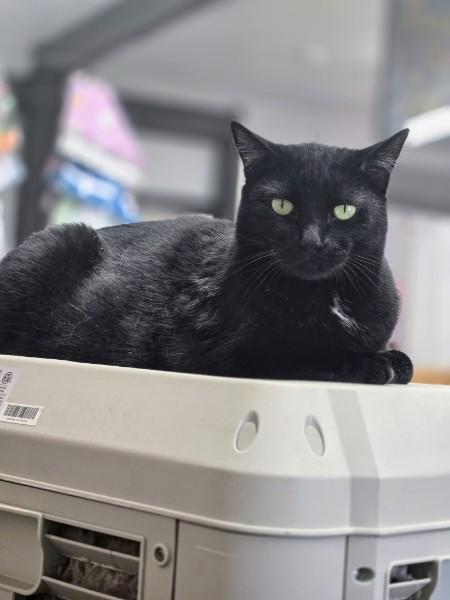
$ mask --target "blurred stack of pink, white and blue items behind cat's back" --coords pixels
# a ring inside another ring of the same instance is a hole
[[[137,220],[133,190],[143,180],[143,155],[117,94],[100,79],[82,72],[68,78],[47,174],[66,199],[65,219],[73,220],[84,205],[111,222]],[[73,214],[67,216],[70,206]]]

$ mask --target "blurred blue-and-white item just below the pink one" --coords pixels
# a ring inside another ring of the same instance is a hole
[[[104,210],[120,222],[138,220],[133,196],[117,181],[69,160],[52,162],[47,177],[57,192]]]

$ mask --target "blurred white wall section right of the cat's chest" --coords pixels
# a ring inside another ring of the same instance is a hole
[[[390,210],[387,255],[402,291],[396,341],[416,365],[450,365],[450,216]]]

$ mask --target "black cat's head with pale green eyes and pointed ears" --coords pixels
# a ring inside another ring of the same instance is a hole
[[[239,123],[231,127],[246,180],[237,219],[241,244],[307,280],[333,276],[352,257],[383,255],[385,194],[407,129],[349,150],[281,145]]]

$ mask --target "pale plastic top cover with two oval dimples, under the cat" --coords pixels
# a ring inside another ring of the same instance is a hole
[[[0,422],[0,479],[262,535],[450,527],[449,387],[0,365],[44,407]]]

